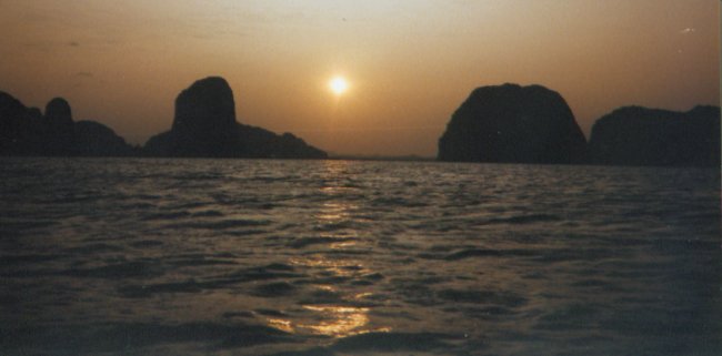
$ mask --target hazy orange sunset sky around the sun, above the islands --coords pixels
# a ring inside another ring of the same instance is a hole
[[[719,104],[718,0],[0,0],[0,90],[132,143],[225,78],[238,120],[333,153],[435,155],[477,87],[542,84],[584,133],[621,105]],[[328,81],[351,83],[337,98]]]

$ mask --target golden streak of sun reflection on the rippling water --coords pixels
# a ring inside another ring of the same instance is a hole
[[[357,232],[353,228],[353,212],[357,205],[350,203],[344,195],[357,192],[358,187],[348,186],[342,177],[348,173],[348,164],[333,163],[327,166],[328,175],[324,176],[330,184],[320,189],[324,196],[331,197],[320,204],[312,216],[319,226],[318,237],[328,237],[328,248],[334,251],[353,250],[359,246]],[[318,242],[321,244],[322,242]],[[292,256],[291,265],[309,271],[319,279],[313,283],[313,288],[322,292],[317,294],[315,301],[301,305],[301,309],[293,317],[268,318],[268,325],[280,330],[299,335],[318,335],[333,338],[372,333],[390,332],[391,328],[371,326],[370,307],[355,305],[371,297],[373,293],[359,291],[358,287],[345,284],[334,284],[332,278],[339,281],[355,278],[371,274],[364,264],[355,258],[337,255],[328,256],[324,252],[310,255]],[[331,284],[329,284],[331,283]],[[321,295],[321,297],[318,297]],[[324,299],[324,298],[329,299]],[[319,303],[319,304],[315,304]],[[322,303],[322,304],[321,304]],[[302,311],[302,312],[301,312]]]

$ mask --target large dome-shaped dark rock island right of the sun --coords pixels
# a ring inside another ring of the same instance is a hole
[[[571,109],[541,85],[475,89],[439,140],[440,161],[584,163],[586,140]]]

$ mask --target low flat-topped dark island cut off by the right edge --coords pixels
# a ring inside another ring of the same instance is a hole
[[[720,108],[621,108],[594,123],[589,146],[594,164],[719,167]]]

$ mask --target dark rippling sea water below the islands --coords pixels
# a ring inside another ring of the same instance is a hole
[[[718,170],[0,164],[0,355],[722,354]]]

